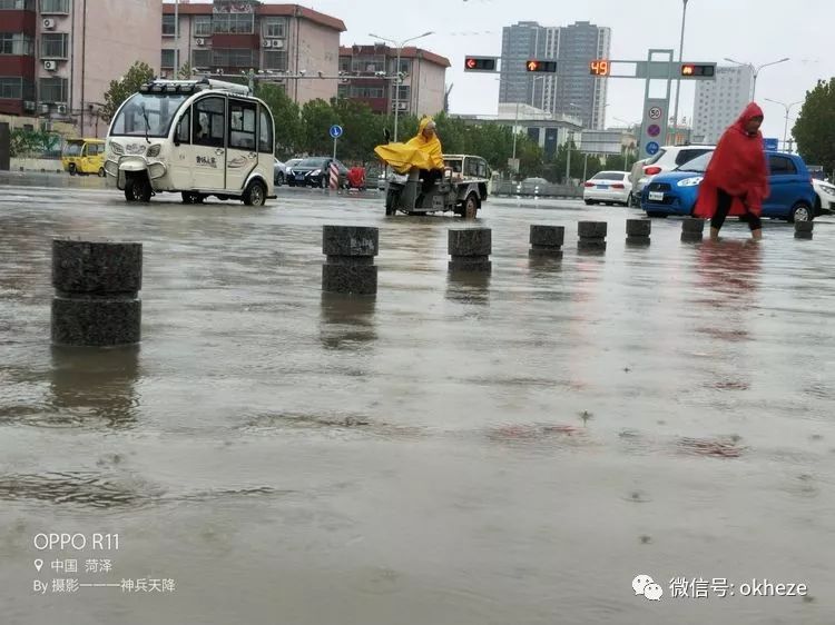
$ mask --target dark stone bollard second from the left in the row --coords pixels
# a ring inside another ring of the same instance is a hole
[[[363,226],[324,226],[322,254],[322,290],[375,295],[377,292],[377,255],[380,230]]]

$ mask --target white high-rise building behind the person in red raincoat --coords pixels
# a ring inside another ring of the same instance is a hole
[[[696,82],[694,142],[715,143],[750,101],[754,72],[747,66],[717,67],[715,80]]]

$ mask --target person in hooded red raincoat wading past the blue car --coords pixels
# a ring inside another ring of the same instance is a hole
[[[728,215],[746,217],[752,238],[763,238],[763,200],[768,197],[768,166],[759,127],[763,109],[750,102],[723,133],[699,186],[694,215],[710,219],[710,238]]]

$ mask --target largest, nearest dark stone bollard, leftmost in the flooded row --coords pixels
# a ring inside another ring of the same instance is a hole
[[[141,339],[143,244],[52,240],[52,343],[108,347]]]

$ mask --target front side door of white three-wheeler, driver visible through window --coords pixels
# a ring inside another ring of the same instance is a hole
[[[191,107],[191,180],[199,191],[226,189],[226,97],[206,96]]]

